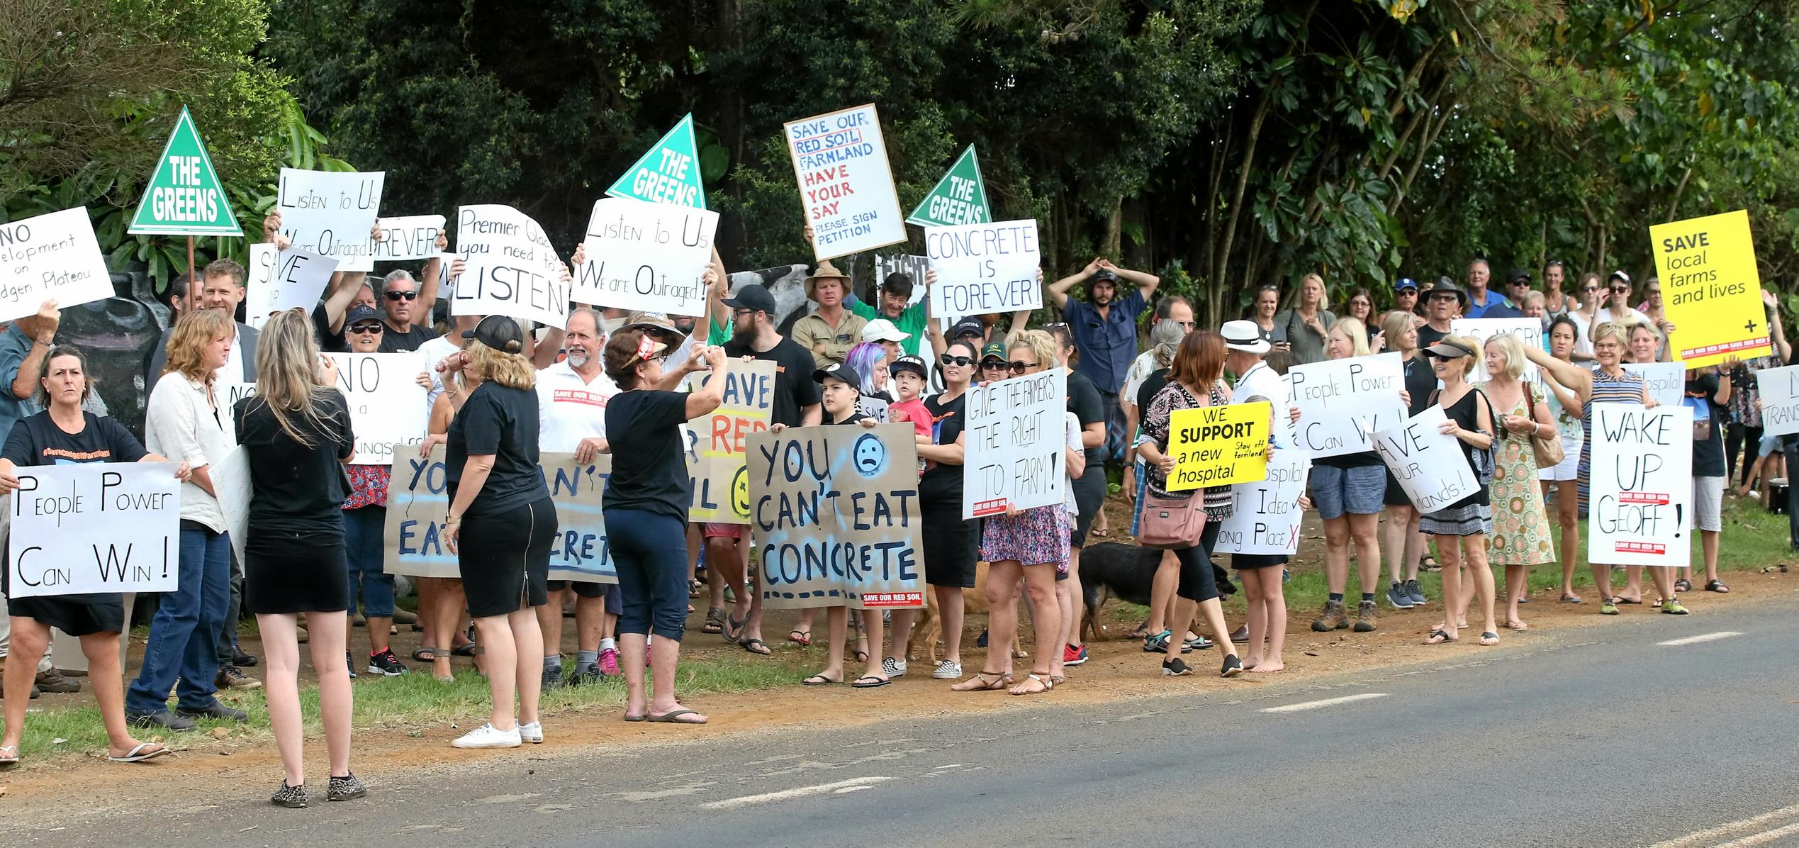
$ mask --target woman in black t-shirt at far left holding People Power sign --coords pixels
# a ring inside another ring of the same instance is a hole
[[[45,410],[22,418],[5,438],[5,450],[0,450],[0,493],[18,488],[14,472],[22,466],[167,463],[146,452],[119,421],[81,410],[81,401],[94,391],[94,380],[88,376],[88,360],[79,349],[50,347],[38,383],[38,401]],[[187,463],[175,470],[175,477],[187,481]],[[9,564],[4,574],[11,571]],[[11,614],[13,641],[11,663],[5,664],[5,740],[0,740],[0,765],[18,762],[31,684],[38,675],[38,661],[50,646],[52,627],[81,639],[94,700],[99,702],[101,720],[106,722],[106,758],[115,763],[135,763],[169,753],[155,742],[135,740],[124,720],[124,679],[119,672],[124,605],[119,594],[13,598],[7,592],[7,614]]]

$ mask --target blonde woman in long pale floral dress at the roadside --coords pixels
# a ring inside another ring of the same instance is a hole
[[[1527,630],[1518,601],[1531,591],[1531,565],[1556,562],[1544,492],[1536,484],[1536,452],[1531,438],[1560,439],[1549,416],[1549,400],[1536,383],[1524,382],[1524,342],[1511,333],[1486,340],[1488,382],[1477,385],[1499,416],[1500,443],[1493,452],[1493,535],[1486,555],[1506,567],[1506,627]],[[1466,591],[1463,592],[1466,598]],[[1466,609],[1466,600],[1463,609]]]

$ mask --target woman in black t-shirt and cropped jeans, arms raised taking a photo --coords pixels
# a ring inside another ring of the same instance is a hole
[[[694,346],[678,371],[662,373],[667,346],[640,331],[613,333],[603,353],[619,394],[606,401],[606,434],[630,450],[612,454],[601,497],[606,544],[619,573],[619,650],[624,654],[624,720],[705,724],[675,699],[680,639],[687,628],[687,508],[693,477],[682,425],[718,409],[730,360],[723,347]],[[694,371],[712,376],[694,392],[671,391]],[[788,373],[788,378],[801,374]],[[644,697],[644,654],[655,628],[655,691]]]

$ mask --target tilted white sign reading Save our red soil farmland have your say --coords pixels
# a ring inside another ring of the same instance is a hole
[[[793,157],[801,207],[815,259],[905,241],[900,193],[887,166],[887,140],[874,104],[828,112],[781,126]]]

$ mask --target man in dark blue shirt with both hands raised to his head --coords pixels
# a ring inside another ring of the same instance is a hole
[[[1087,299],[1069,297],[1069,290],[1083,281]],[[1121,293],[1123,283],[1133,288]],[[1160,283],[1155,274],[1119,268],[1099,257],[1049,286],[1049,299],[1061,310],[1061,319],[1069,322],[1069,333],[1079,349],[1074,369],[1099,387],[1099,400],[1106,409],[1106,459],[1124,456],[1124,410],[1119,407],[1119,389],[1124,387],[1124,373],[1137,358],[1137,317],[1150,308],[1150,295]]]

